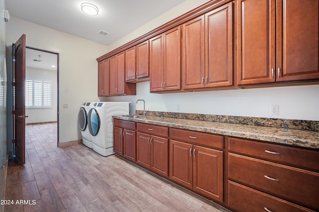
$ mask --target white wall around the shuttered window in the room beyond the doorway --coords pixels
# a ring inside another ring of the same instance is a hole
[[[52,107],[50,108],[25,108],[25,123],[56,122],[57,121],[57,71],[25,68],[25,79],[51,82]]]

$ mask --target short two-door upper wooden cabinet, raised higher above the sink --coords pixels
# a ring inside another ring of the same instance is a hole
[[[149,41],[125,51],[125,71],[127,81],[149,76]]]

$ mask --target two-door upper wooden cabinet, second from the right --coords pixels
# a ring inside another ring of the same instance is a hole
[[[182,89],[233,85],[232,3],[182,25]]]

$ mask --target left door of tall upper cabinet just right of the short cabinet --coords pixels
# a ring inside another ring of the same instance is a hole
[[[162,36],[150,40],[150,91],[163,90],[163,39]]]

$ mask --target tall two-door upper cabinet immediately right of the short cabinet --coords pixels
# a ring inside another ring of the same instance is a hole
[[[180,90],[180,26],[150,40],[150,90]]]

